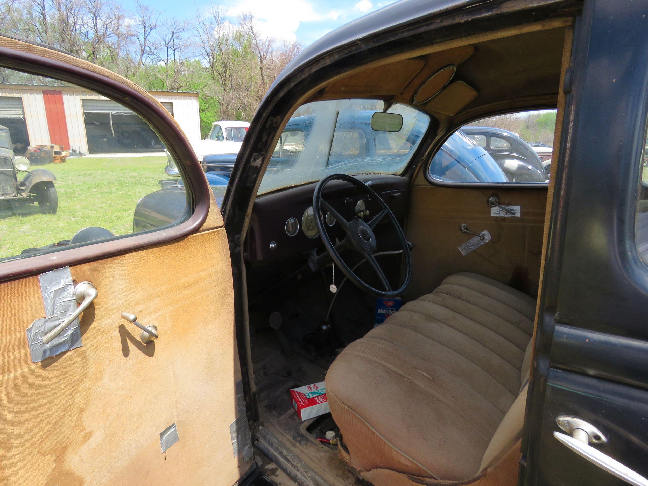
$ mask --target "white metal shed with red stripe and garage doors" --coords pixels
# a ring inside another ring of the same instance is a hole
[[[190,140],[200,139],[198,93],[149,93],[167,108]],[[135,113],[79,87],[0,84],[0,125],[8,126],[12,142],[25,149],[55,144],[90,155],[163,150]]]

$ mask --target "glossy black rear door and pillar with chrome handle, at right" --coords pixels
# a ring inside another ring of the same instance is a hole
[[[526,485],[648,484],[647,19],[645,3],[596,0],[576,23]]]

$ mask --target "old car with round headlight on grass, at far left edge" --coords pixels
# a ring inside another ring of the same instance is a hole
[[[51,170],[29,170],[27,157],[14,156],[11,133],[0,125],[0,216],[24,213],[26,205],[38,205],[41,213],[55,214],[58,195]],[[18,180],[18,172],[27,172]]]

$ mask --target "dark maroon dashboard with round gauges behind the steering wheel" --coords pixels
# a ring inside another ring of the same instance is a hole
[[[371,174],[357,176],[387,203],[401,220],[407,214],[410,180],[400,176]],[[313,194],[317,183],[301,185],[259,196],[254,203],[244,258],[249,261],[269,260],[295,255],[322,245],[313,214]],[[358,216],[371,220],[380,209],[368,194],[345,181],[330,181],[322,193],[341,216],[351,220]],[[388,221],[384,218],[381,225]],[[344,237],[336,220],[325,215],[327,232],[332,241]]]

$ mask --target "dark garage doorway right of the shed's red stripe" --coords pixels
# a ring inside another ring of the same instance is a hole
[[[82,100],[90,154],[163,152],[156,133],[141,118],[112,100]],[[163,103],[173,115],[173,104]]]

